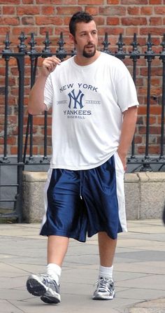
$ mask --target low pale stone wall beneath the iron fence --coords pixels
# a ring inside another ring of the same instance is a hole
[[[23,220],[41,222],[46,172],[23,174]],[[137,172],[124,176],[127,219],[162,218],[165,203],[165,172]]]

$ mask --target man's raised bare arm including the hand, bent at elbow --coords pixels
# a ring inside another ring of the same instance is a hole
[[[55,70],[57,64],[59,65],[60,62],[57,57],[47,57],[43,61],[40,74],[29,94],[28,112],[30,114],[41,114],[47,110],[47,106],[44,104],[45,83],[49,74]]]

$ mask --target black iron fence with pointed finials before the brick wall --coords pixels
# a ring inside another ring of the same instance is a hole
[[[43,134],[43,155],[35,155],[34,153],[34,117],[30,114],[27,118],[27,125],[26,125],[26,134],[24,136],[24,69],[25,69],[25,62],[29,60],[30,66],[30,87],[34,85],[36,79],[36,72],[38,67],[38,60],[42,57],[48,57],[51,55],[56,55],[59,57],[60,60],[64,60],[66,57],[73,56],[76,54],[76,50],[72,50],[71,53],[68,53],[64,48],[64,38],[63,34],[60,34],[60,38],[58,41],[58,48],[53,53],[50,49],[50,39],[48,33],[45,36],[44,41],[44,48],[41,52],[36,50],[36,41],[34,39],[34,34],[31,34],[31,39],[29,41],[29,48],[27,48],[25,41],[26,36],[24,33],[19,37],[20,44],[18,46],[18,52],[15,53],[10,50],[10,40],[8,34],[6,34],[6,41],[4,49],[1,51],[1,57],[4,60],[4,67],[5,67],[5,88],[2,90],[1,95],[3,94],[3,103],[4,103],[4,123],[3,123],[3,130],[1,130],[0,138],[3,137],[3,153],[1,154],[0,158],[0,174],[1,168],[8,168],[10,172],[10,167],[15,167],[16,169],[16,181],[15,183],[11,183],[10,179],[9,182],[4,182],[3,179],[0,184],[0,190],[2,188],[14,188],[15,196],[13,198],[1,198],[0,199],[0,207],[2,203],[10,203],[13,202],[13,209],[10,209],[5,214],[0,214],[1,217],[8,217],[13,216],[22,220],[22,171],[26,167],[28,168],[29,165],[32,167],[35,165],[49,165],[50,162],[50,155],[48,153],[48,113],[45,111],[44,116],[44,134]],[[147,85],[146,85],[146,122],[145,122],[145,151],[143,155],[136,152],[135,146],[136,142],[135,139],[131,145],[131,151],[128,158],[128,165],[130,172],[135,171],[160,171],[165,170],[165,157],[164,157],[164,102],[165,102],[165,34],[162,38],[162,50],[159,53],[155,53],[152,50],[152,39],[150,34],[148,35],[148,41],[146,42],[144,51],[138,50],[138,40],[136,38],[136,34],[134,34],[133,41],[131,42],[131,50],[127,52],[124,50],[124,42],[122,38],[122,34],[120,34],[119,40],[117,42],[117,49],[113,53],[110,51],[109,46],[110,43],[108,42],[108,35],[105,34],[105,39],[102,43],[104,53],[109,53],[110,55],[115,55],[115,57],[120,58],[121,60],[131,60],[131,72],[134,79],[134,83],[136,84],[138,75],[138,60],[146,60],[147,61]],[[12,158],[11,155],[8,153],[8,116],[9,116],[9,102],[8,102],[8,95],[9,95],[9,61],[10,58],[14,58],[17,60],[17,70],[18,70],[18,88],[17,88],[17,155],[15,158]],[[149,153],[150,148],[150,107],[151,107],[151,78],[152,78],[152,62],[155,59],[159,59],[161,62],[161,118],[160,118],[160,128],[161,133],[159,136],[159,153],[156,155],[152,155]],[[27,148],[28,148],[28,155],[27,155]],[[35,167],[37,168],[37,167]],[[5,170],[3,171],[5,172]],[[10,175],[9,175],[10,177]],[[2,195],[0,191],[0,195]]]

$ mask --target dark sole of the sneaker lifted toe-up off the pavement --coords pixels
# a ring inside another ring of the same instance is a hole
[[[40,281],[38,281],[34,277],[31,277],[27,281],[27,291],[29,291],[29,293],[31,293],[32,295],[41,297],[41,295],[45,294],[47,288],[45,288],[45,286]]]

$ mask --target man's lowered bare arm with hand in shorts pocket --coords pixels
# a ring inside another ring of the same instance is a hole
[[[129,109],[123,112],[120,144],[118,146],[117,153],[122,160],[124,170],[126,170],[127,167],[127,153],[129,151],[129,147],[131,146],[131,141],[134,137],[137,112],[137,106],[131,106]]]

